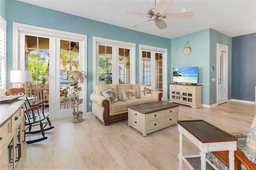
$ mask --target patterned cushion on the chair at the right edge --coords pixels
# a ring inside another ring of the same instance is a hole
[[[256,116],[248,133],[247,146],[242,148],[242,152],[250,161],[256,164]]]

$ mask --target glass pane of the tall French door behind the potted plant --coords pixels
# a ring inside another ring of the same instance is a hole
[[[60,109],[72,108],[76,99],[74,87],[77,85],[67,75],[79,70],[79,43],[60,40]]]

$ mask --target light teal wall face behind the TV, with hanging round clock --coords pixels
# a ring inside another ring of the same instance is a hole
[[[186,42],[189,42],[192,49],[190,55],[184,55],[182,51]],[[171,49],[171,69],[198,67],[198,84],[202,85],[202,104],[209,105],[210,29],[172,39]]]

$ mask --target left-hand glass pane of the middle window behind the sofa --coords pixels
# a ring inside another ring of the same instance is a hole
[[[112,47],[99,45],[99,84],[112,84]]]

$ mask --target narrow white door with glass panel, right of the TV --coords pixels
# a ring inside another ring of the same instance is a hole
[[[217,104],[228,101],[228,46],[217,43]]]

